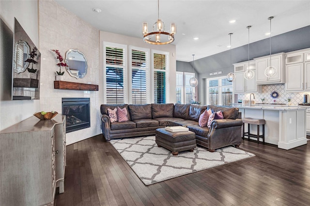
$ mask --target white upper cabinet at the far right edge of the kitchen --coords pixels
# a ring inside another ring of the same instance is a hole
[[[287,92],[310,91],[310,49],[287,53],[285,58]]]

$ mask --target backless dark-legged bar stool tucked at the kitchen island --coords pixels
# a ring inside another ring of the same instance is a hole
[[[242,118],[242,140],[244,140],[244,136],[257,138],[257,143],[260,143],[260,138],[263,138],[263,143],[265,143],[265,120],[264,119],[254,119],[250,117]],[[244,124],[248,124],[248,132],[244,132]],[[250,125],[257,125],[257,134],[250,133]],[[260,125],[263,125],[263,134],[260,135]]]

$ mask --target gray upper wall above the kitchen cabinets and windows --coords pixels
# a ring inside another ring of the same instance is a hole
[[[303,48],[310,48],[310,26],[303,27],[291,32],[279,34],[271,37],[271,53],[290,52]],[[250,60],[253,58],[269,55],[269,38],[250,43]],[[232,49],[232,63],[244,62],[248,60],[248,45]],[[222,74],[211,77],[227,75],[233,72],[233,65],[230,65],[230,50],[195,60],[195,70],[199,73],[198,90],[199,101],[205,104],[206,78],[210,78],[210,73],[222,71]],[[177,71],[192,72],[192,62],[187,66],[184,62],[177,61]],[[180,66],[180,70],[179,67]],[[187,70],[185,70],[187,68]]]

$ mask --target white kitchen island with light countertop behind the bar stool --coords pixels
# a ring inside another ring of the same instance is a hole
[[[281,149],[291,149],[307,144],[306,108],[290,106],[237,106],[243,117],[264,119],[265,142],[276,144]],[[248,127],[245,127],[247,132]],[[251,125],[250,132],[256,134],[256,125]],[[260,134],[262,128],[260,128]],[[262,140],[261,140],[262,141]]]

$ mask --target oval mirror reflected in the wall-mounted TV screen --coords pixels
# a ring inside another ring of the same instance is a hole
[[[19,40],[15,43],[14,48],[14,62],[13,68],[14,72],[17,74],[24,72],[29,66],[28,62],[25,62],[30,58],[30,48],[27,42]]]

